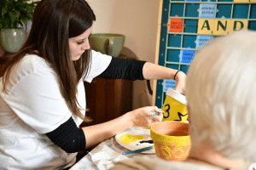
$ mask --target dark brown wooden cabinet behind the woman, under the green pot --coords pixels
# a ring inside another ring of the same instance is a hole
[[[0,48],[0,71],[11,55]],[[128,57],[120,55],[119,58]],[[97,77],[90,83],[84,82],[84,88],[86,106],[90,110],[86,116],[93,121],[83,122],[80,127],[108,122],[132,110],[132,81]]]

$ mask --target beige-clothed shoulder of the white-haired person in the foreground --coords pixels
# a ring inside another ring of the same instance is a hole
[[[110,170],[208,170],[208,167],[186,161],[166,161],[159,157],[136,156],[132,159],[117,161]],[[210,169],[209,169],[210,170]]]

